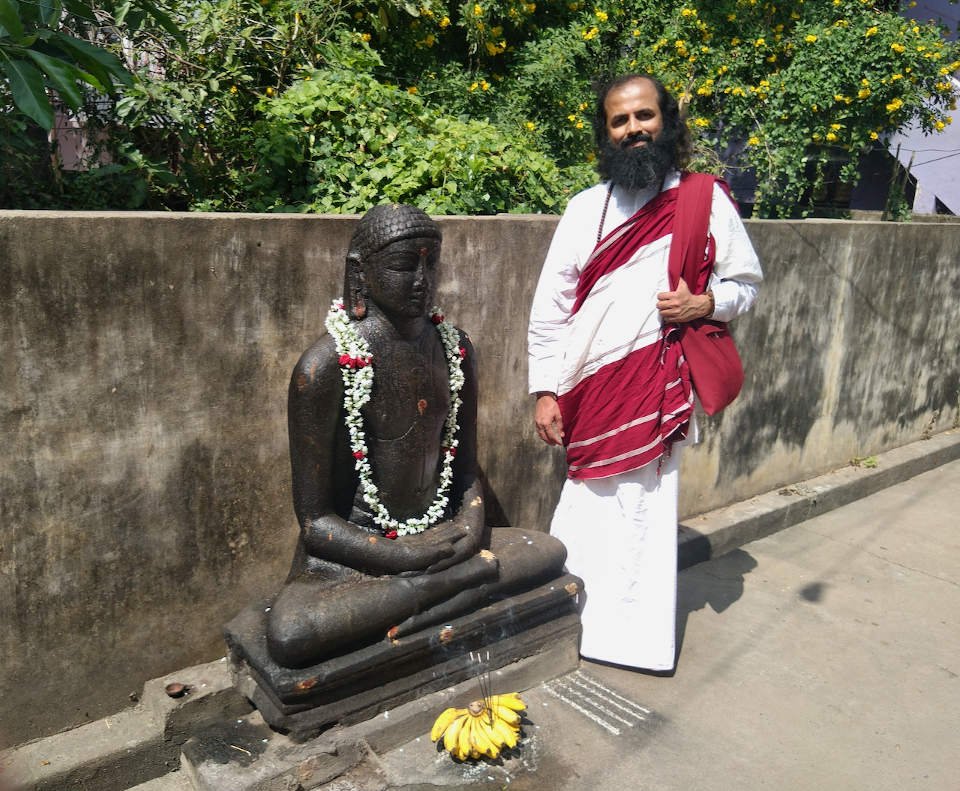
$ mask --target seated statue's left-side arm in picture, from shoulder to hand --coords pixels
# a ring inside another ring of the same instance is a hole
[[[329,337],[304,353],[294,368],[287,400],[293,503],[307,554],[373,574],[427,569],[454,554],[453,539],[371,534],[336,512],[337,433],[343,420],[343,380]]]

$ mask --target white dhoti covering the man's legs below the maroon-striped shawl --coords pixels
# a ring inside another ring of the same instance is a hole
[[[550,533],[567,547],[567,570],[584,582],[587,659],[674,667],[680,455],[675,445],[639,469],[563,486]]]

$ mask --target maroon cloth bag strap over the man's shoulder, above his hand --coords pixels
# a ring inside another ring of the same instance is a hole
[[[677,187],[677,206],[673,218],[673,239],[667,271],[670,289],[676,291],[680,278],[694,293],[697,276],[707,249],[713,185],[717,177],[710,173],[683,173]]]

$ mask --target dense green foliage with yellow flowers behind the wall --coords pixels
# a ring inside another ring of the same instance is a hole
[[[177,35],[149,17],[113,20],[138,79],[105,109],[101,97],[94,120],[112,168],[91,176],[99,197],[64,191],[84,179],[45,168],[48,151],[31,160],[44,184],[0,189],[77,208],[119,196],[116,179],[152,208],[558,211],[594,179],[593,83],[648,71],[685,107],[697,167],[752,167],[758,216],[801,214],[831,163],[852,181],[890,133],[950,120],[960,50],[898,7],[188,0],[171,11]],[[4,153],[30,159],[3,129]]]

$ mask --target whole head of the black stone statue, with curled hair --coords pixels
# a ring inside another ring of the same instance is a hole
[[[368,300],[390,315],[426,315],[436,290],[440,242],[439,226],[415,206],[370,209],[347,253],[343,304],[348,315],[363,319]]]

